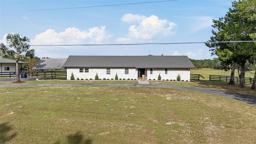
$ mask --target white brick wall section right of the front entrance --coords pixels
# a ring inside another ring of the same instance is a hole
[[[180,80],[190,81],[190,69],[170,69],[168,68],[167,74],[165,74],[165,68],[153,68],[153,74],[150,74],[150,68],[147,70],[147,79],[158,80],[160,74],[161,80],[177,80],[178,74],[180,74]]]

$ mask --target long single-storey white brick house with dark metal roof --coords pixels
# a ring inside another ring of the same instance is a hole
[[[187,56],[69,56],[63,65],[67,79],[158,79],[190,81],[190,68],[195,68]]]

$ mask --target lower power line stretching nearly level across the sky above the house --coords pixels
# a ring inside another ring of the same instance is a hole
[[[141,44],[43,44],[30,46],[124,46],[124,45],[149,45],[149,44],[205,44],[205,43],[234,43],[234,42],[256,42],[256,40],[246,41],[224,41],[224,42],[172,42],[172,43],[141,43]],[[19,45],[24,46],[24,45]]]

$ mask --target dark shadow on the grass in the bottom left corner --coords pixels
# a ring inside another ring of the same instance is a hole
[[[8,135],[8,132],[12,130],[12,126],[9,125],[9,122],[0,124],[0,144],[9,142],[17,135],[17,132],[12,135]]]

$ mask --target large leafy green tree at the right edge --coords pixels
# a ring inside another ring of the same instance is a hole
[[[229,8],[226,15],[213,22],[212,26],[215,30],[212,30],[213,36],[210,37],[206,46],[210,48],[212,54],[219,56],[222,64],[239,65],[239,86],[244,87],[245,63],[255,61],[253,58],[256,56],[256,44],[234,41],[253,40],[251,35],[256,32],[256,0],[232,2],[232,8]]]

